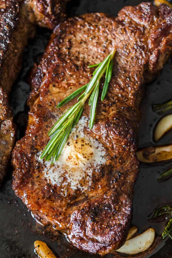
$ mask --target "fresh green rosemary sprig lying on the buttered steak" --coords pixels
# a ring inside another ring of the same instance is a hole
[[[52,136],[52,138],[41,155],[42,159],[45,158],[45,160],[50,160],[53,157],[52,163],[58,160],[71,129],[78,123],[81,117],[85,102],[88,98],[90,98],[88,102],[88,105],[90,106],[89,128],[92,129],[99,96],[100,80],[105,73],[105,82],[101,95],[101,101],[103,101],[112,77],[113,58],[115,53],[116,50],[113,50],[101,63],[88,66],[90,68],[97,66],[90,82],[71,93],[57,105],[57,108],[60,108],[82,93],[77,99],[78,102],[69,108],[49,131],[48,135]]]

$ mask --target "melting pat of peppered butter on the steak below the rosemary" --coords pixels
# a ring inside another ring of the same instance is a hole
[[[106,150],[95,139],[84,134],[87,119],[83,116],[72,129],[71,134],[57,162],[36,158],[44,165],[44,177],[48,183],[60,187],[60,193],[67,196],[69,189],[85,192],[92,184],[93,171],[98,173],[106,162]]]

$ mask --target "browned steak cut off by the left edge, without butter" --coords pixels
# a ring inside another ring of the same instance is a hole
[[[35,34],[35,22],[52,29],[64,17],[65,1],[44,2],[0,0],[0,182],[15,141],[8,93],[21,69],[23,49]]]

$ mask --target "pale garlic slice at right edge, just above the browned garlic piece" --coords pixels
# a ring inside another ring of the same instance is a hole
[[[154,141],[157,142],[171,128],[172,128],[172,114],[162,117],[155,127]]]

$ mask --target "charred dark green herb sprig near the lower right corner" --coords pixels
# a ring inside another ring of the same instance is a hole
[[[162,239],[170,237],[172,239],[172,208],[168,205],[155,209],[152,216],[149,217],[149,220],[157,220],[162,215],[166,215],[165,219],[169,219],[166,224],[165,229],[162,232]]]

